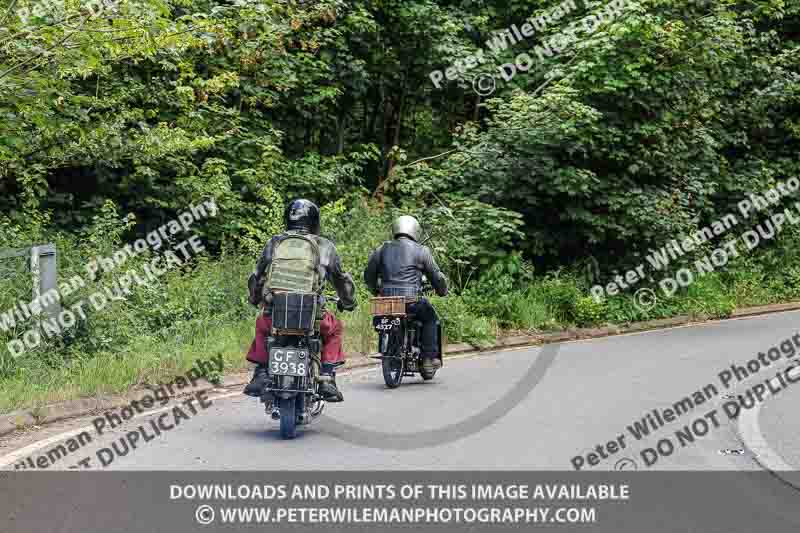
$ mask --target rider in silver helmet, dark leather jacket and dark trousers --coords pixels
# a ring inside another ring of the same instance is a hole
[[[412,216],[403,215],[394,221],[394,240],[383,243],[372,252],[364,271],[364,281],[372,294],[419,296],[422,274],[425,274],[436,294],[447,296],[447,278],[436,265],[430,249],[419,244],[421,233],[419,222]],[[422,322],[422,366],[426,372],[438,370],[442,363],[436,310],[425,298],[409,304],[408,310]]]

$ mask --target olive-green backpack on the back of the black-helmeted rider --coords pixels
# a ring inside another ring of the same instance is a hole
[[[264,283],[264,295],[278,292],[319,293],[319,244],[312,237],[300,233],[281,235],[272,250],[272,264]]]

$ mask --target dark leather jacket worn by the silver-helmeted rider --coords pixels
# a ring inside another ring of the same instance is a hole
[[[383,243],[369,256],[364,281],[372,294],[417,296],[425,274],[439,296],[447,296],[447,279],[430,248],[408,237]],[[378,280],[380,279],[380,286]]]

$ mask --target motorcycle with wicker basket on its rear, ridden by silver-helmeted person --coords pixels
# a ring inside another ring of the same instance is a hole
[[[383,381],[390,389],[399,387],[405,376],[418,373],[423,380],[430,381],[436,375],[436,370],[427,372],[422,366],[422,322],[408,312],[408,305],[417,300],[417,297],[409,296],[384,296],[370,300],[372,325],[378,332],[380,354],[371,357],[381,361]],[[441,324],[438,338],[439,361],[443,363]]]

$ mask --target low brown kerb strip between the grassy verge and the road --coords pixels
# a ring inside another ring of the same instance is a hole
[[[448,355],[461,355],[466,353],[480,353],[494,350],[502,350],[505,348],[515,348],[523,346],[538,346],[542,344],[552,344],[557,342],[566,342],[582,339],[597,339],[602,337],[611,337],[627,333],[636,333],[643,331],[652,331],[658,329],[668,329],[677,326],[685,326],[690,324],[700,324],[709,320],[730,320],[737,318],[744,318],[749,316],[758,316],[765,314],[781,313],[785,311],[800,310],[800,302],[791,302],[783,304],[760,305],[754,307],[746,307],[734,310],[730,316],[724,318],[709,317],[706,315],[679,315],[672,318],[662,318],[657,320],[647,320],[643,322],[635,322],[623,326],[607,326],[601,328],[571,328],[562,331],[551,333],[537,333],[525,335],[512,335],[507,337],[498,338],[497,341],[491,345],[478,346],[469,343],[448,344],[444,347],[445,357]],[[362,368],[374,365],[375,363],[363,354],[359,354],[359,358],[363,361],[357,361],[348,366],[347,370]],[[212,383],[190,387],[188,390],[181,394],[176,394],[175,397],[194,394],[204,390],[223,389],[244,385],[249,381],[249,373],[236,373],[226,376],[221,385]],[[127,394],[119,396],[99,396],[92,398],[79,398],[75,400],[66,400],[55,404],[47,405],[38,408],[29,408],[14,411],[5,415],[0,415],[0,437],[14,433],[15,431],[23,430],[25,428],[43,426],[87,416],[102,411],[107,411],[116,407],[121,407],[129,404],[132,399],[136,398],[135,392],[141,392],[139,389],[132,389]]]

